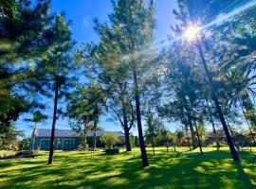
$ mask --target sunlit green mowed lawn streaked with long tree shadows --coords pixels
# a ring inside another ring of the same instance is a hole
[[[151,165],[141,167],[139,149],[118,155],[96,152],[56,152],[47,165],[47,153],[34,159],[0,162],[0,188],[256,188],[254,152],[240,152],[241,163],[233,163],[228,148],[204,148],[177,152],[148,148]]]

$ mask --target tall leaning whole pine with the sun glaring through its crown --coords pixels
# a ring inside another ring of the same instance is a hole
[[[220,13],[225,13],[223,11],[227,5],[227,2],[218,2],[218,1],[212,1],[212,2],[206,2],[206,1],[187,1],[187,0],[179,0],[178,1],[178,11],[174,11],[174,14],[176,15],[176,18],[180,21],[181,25],[176,26],[176,30],[183,31],[184,27],[186,26],[194,26],[197,23],[200,23],[200,25],[204,26],[210,23],[210,21],[214,20]],[[219,5],[219,7],[216,7],[216,5]],[[197,11],[198,7],[201,7],[200,11]],[[222,105],[218,98],[218,89],[216,88],[216,84],[212,78],[212,75],[210,73],[208,60],[206,58],[206,44],[208,43],[208,40],[204,38],[203,32],[200,33],[200,40],[199,37],[196,36],[194,47],[196,47],[198,51],[198,58],[199,62],[201,62],[201,65],[204,69],[205,77],[207,79],[207,83],[210,88],[210,94],[211,99],[215,104],[216,112],[218,113],[219,119],[222,123],[223,129],[226,134],[227,142],[229,144],[229,149],[232,155],[232,158],[235,162],[239,162],[240,159],[238,157],[238,154],[234,148],[233,140],[229,133],[229,126],[227,124],[227,121],[225,119],[224,112],[222,110]]]

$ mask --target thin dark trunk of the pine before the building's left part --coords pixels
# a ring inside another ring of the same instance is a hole
[[[52,164],[53,154],[54,154],[55,124],[56,124],[56,119],[57,119],[58,92],[59,92],[58,83],[56,83],[55,85],[56,86],[55,86],[55,94],[54,94],[54,107],[53,107],[53,118],[52,118],[52,126],[51,126],[48,164]]]

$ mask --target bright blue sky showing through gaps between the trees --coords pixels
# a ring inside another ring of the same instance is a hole
[[[167,40],[170,32],[170,26],[174,24],[173,9],[175,0],[155,0],[156,11],[156,28],[155,41],[161,42]],[[101,22],[107,22],[108,14],[112,11],[110,0],[52,0],[51,11],[61,13],[65,12],[66,19],[72,21],[71,29],[73,38],[79,43],[99,42],[99,37],[93,29],[93,19],[98,18]],[[51,100],[47,100],[51,103]],[[61,102],[64,103],[64,102]],[[51,113],[52,109],[46,110],[45,113]],[[22,129],[27,135],[31,134],[31,123],[24,122],[24,118],[29,115],[23,115],[16,122],[17,129]],[[107,117],[101,117],[101,127],[106,130],[120,130],[119,123],[113,123],[106,120]],[[51,128],[51,119],[38,125],[39,128]],[[56,124],[57,129],[70,129],[68,119],[60,118]],[[136,132],[136,130],[134,130]]]

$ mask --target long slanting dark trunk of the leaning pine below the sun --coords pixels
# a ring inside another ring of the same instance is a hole
[[[212,100],[213,100],[213,102],[215,104],[216,112],[218,113],[220,121],[222,123],[222,127],[224,129],[224,132],[225,132],[225,135],[226,135],[226,138],[227,138],[227,142],[229,144],[229,149],[230,149],[233,161],[234,162],[240,162],[240,158],[239,158],[239,156],[237,154],[237,151],[235,150],[233,141],[232,141],[232,139],[230,137],[229,128],[228,128],[226,120],[224,118],[224,114],[223,114],[223,112],[221,110],[219,100],[217,98],[217,91],[215,89],[213,79],[210,76],[210,72],[209,72],[207,64],[206,64],[206,59],[205,59],[205,57],[203,55],[203,50],[202,50],[201,44],[199,43],[198,40],[197,40],[197,48],[198,48],[198,51],[199,51],[200,58],[202,60],[202,64],[204,66],[206,77],[208,78],[211,97],[212,97]]]

